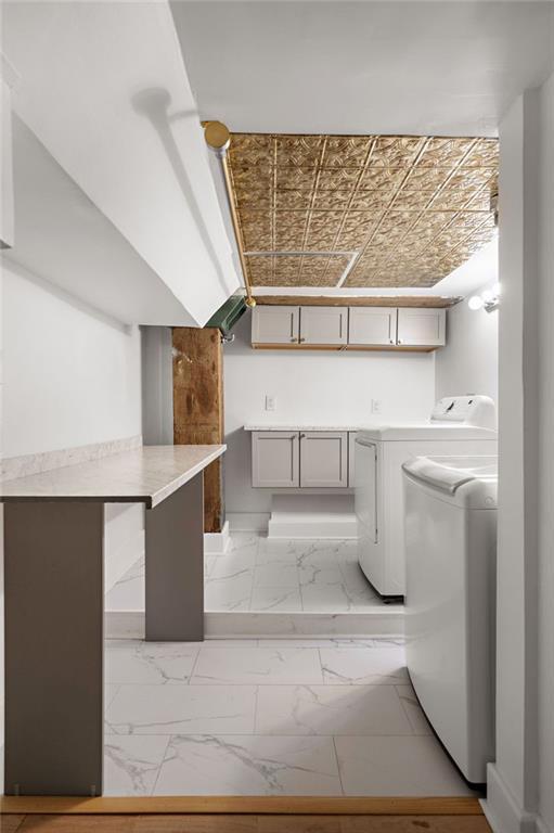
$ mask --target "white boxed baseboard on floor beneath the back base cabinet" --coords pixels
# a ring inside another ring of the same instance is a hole
[[[357,534],[351,512],[272,512],[268,524],[268,538],[344,540]]]

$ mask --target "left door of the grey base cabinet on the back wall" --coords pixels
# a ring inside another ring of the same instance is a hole
[[[297,431],[255,431],[252,435],[252,485],[299,486]]]

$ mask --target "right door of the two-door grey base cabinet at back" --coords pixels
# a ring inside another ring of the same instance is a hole
[[[308,488],[348,486],[348,433],[346,431],[300,433],[300,486]]]

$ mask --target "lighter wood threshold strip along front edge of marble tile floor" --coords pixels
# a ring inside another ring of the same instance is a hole
[[[81,798],[11,796],[0,798],[5,813],[241,813],[320,816],[481,816],[477,798],[365,798],[325,796],[141,796]],[[0,829],[1,830],[1,829]],[[3,833],[3,832],[2,832]]]

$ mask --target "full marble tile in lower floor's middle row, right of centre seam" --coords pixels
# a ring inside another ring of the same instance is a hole
[[[260,685],[256,734],[412,734],[394,685]]]

